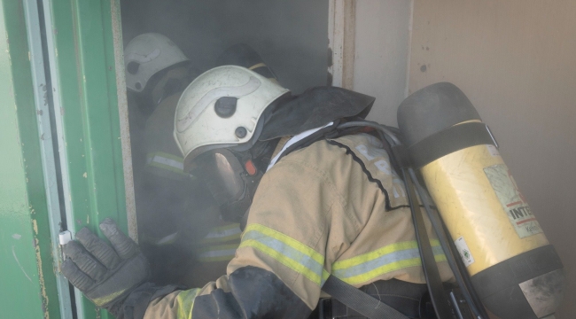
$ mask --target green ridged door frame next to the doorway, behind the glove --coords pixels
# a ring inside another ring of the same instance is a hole
[[[111,217],[135,237],[120,2],[43,0],[43,9],[68,230],[101,235]],[[79,319],[111,317],[77,290],[75,305]]]

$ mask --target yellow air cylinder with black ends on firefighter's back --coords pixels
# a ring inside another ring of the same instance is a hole
[[[416,91],[398,124],[486,308],[502,319],[553,315],[562,262],[462,90],[442,82]]]

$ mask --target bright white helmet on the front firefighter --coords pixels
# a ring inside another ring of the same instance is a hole
[[[262,113],[288,92],[241,66],[219,66],[199,75],[175,112],[174,137],[184,165],[202,152],[253,142]]]

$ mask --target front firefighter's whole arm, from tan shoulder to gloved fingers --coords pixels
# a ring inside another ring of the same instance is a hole
[[[320,297],[332,262],[366,222],[359,214],[365,209],[346,201],[346,191],[362,191],[356,167],[342,159],[342,153],[323,147],[322,152],[307,152],[314,161],[288,156],[264,175],[228,275],[203,288],[147,284],[145,260],[136,244],[115,227],[113,234],[120,237],[106,236],[118,256],[97,237],[85,237],[81,244],[88,253],[79,245],[70,246],[74,249],[67,254],[74,257],[62,271],[90,300],[121,318],[306,317]]]

